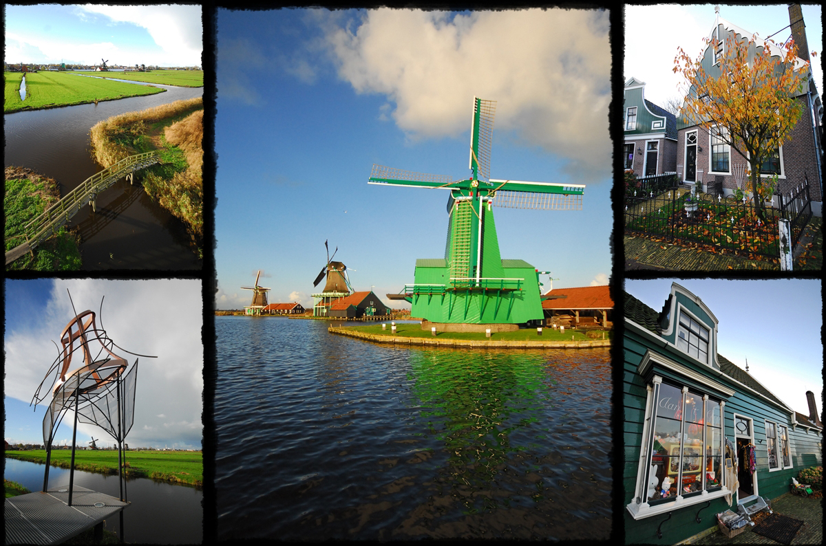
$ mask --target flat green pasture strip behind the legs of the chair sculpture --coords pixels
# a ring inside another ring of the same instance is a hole
[[[6,451],[12,459],[46,462],[45,450]],[[50,464],[69,468],[72,450],[53,450]],[[78,450],[74,468],[102,474],[117,473],[116,450]],[[203,486],[203,456],[200,451],[126,451],[126,478],[152,478],[172,483]]]

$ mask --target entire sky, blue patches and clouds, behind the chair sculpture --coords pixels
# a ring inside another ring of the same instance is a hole
[[[91,309],[112,341],[140,358],[135,423],[126,437],[141,447],[200,449],[202,439],[203,345],[200,280],[5,280],[4,338],[5,439],[11,444],[42,444],[45,406],[29,403],[58,355],[60,333],[77,313]],[[67,292],[67,289],[69,292]],[[69,293],[72,301],[69,300]],[[173,308],[174,313],[159,309]],[[115,350],[130,364],[135,356]],[[96,354],[93,351],[93,354]],[[81,362],[75,358],[70,369]],[[54,377],[46,382],[48,388]],[[45,403],[48,403],[48,399]],[[72,412],[55,440],[69,445]],[[97,426],[78,426],[78,445],[89,436],[114,445]]]

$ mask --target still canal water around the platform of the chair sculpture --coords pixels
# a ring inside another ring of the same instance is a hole
[[[4,478],[31,492],[43,489],[45,464],[5,459]],[[120,498],[117,476],[74,471],[74,483]],[[49,487],[69,485],[69,469],[49,469]],[[131,502],[123,512],[124,539],[131,544],[201,544],[203,539],[203,492],[195,487],[137,478],[126,482]],[[120,534],[120,517],[106,522],[106,529]]]

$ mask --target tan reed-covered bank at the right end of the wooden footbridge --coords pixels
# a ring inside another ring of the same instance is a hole
[[[93,156],[110,167],[135,153],[161,150],[163,163],[142,171],[143,186],[183,220],[201,252],[203,238],[203,100],[175,101],[103,120],[90,131]]]

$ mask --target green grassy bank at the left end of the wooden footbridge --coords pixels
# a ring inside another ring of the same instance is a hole
[[[23,227],[60,199],[57,182],[26,167],[6,167],[5,213],[6,250],[25,242],[19,237]],[[31,254],[24,254],[7,266],[7,270],[74,271],[81,258],[77,236],[65,227],[41,242]]]

